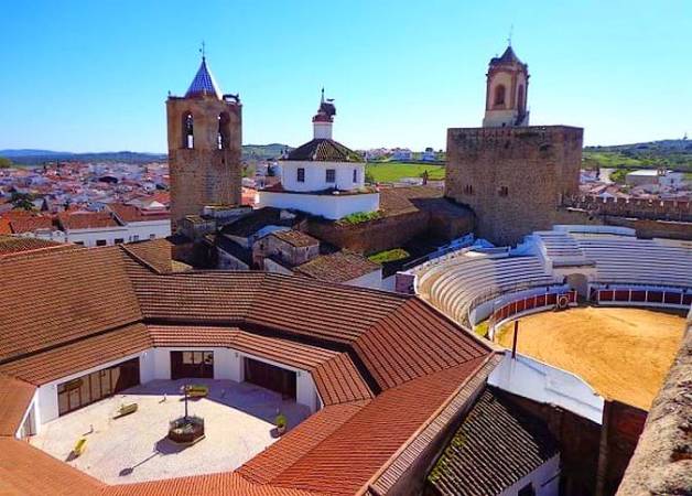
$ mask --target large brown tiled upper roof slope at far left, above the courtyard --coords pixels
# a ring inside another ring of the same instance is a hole
[[[141,319],[117,247],[0,259],[0,363]]]

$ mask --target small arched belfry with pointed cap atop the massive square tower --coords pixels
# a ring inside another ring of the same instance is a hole
[[[517,57],[511,45],[501,56],[490,60],[486,77],[483,127],[529,126],[529,66]]]

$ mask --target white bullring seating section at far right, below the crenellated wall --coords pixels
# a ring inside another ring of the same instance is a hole
[[[629,236],[572,234],[598,282],[692,288],[692,247]]]

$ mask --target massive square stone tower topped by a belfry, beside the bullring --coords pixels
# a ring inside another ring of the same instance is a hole
[[[529,76],[511,47],[487,77],[484,127],[447,129],[445,196],[474,211],[478,237],[511,245],[559,222],[579,192],[583,129],[527,126]]]

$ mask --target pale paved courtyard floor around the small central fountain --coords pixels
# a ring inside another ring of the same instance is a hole
[[[185,448],[166,434],[169,421],[184,413],[180,388],[191,382],[209,386],[207,398],[188,401],[190,414],[204,418],[206,438]],[[113,419],[120,405],[130,402],[138,403],[138,411]],[[310,416],[307,407],[248,382],[153,380],[44,424],[31,443],[109,484],[226,472],[277,441],[278,411],[286,416],[289,429]],[[72,460],[82,436],[86,450]]]

